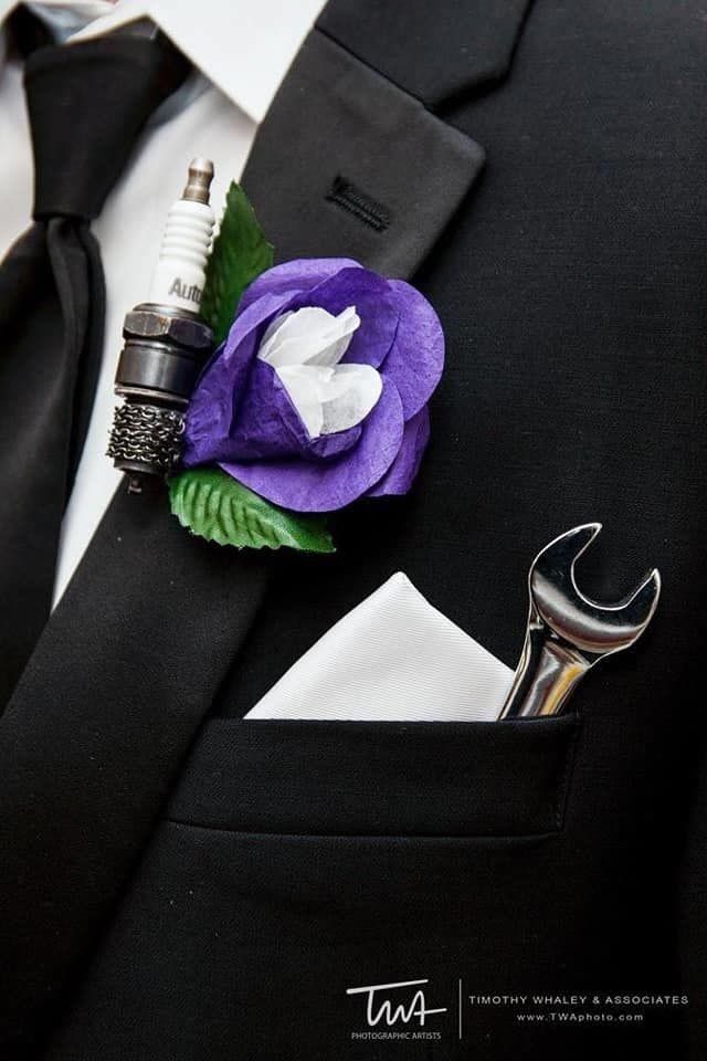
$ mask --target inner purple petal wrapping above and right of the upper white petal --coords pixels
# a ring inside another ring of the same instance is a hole
[[[320,306],[335,316],[347,306],[356,306],[361,324],[354,333],[341,361],[378,368],[388,356],[398,330],[398,297],[382,276],[368,269],[341,269],[310,291],[303,292],[293,305]]]

